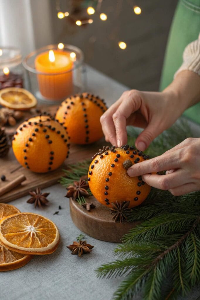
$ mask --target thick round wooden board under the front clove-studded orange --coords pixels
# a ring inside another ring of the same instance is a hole
[[[87,211],[77,201],[69,199],[71,218],[81,231],[98,240],[121,243],[122,236],[140,223],[115,222],[108,207],[100,204],[93,196],[87,198],[86,202],[92,202],[96,207]]]

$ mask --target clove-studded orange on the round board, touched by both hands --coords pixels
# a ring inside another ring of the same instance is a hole
[[[121,148],[103,147],[93,156],[89,166],[88,182],[93,196],[102,204],[112,207],[111,202],[130,201],[129,207],[140,205],[148,196],[151,187],[141,176],[130,177],[127,170],[133,164],[149,156],[133,146]]]

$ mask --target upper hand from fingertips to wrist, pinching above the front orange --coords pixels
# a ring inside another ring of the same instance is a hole
[[[126,125],[145,128],[135,142],[136,147],[144,151],[155,137],[177,120],[184,109],[171,90],[161,93],[125,91],[101,116],[105,140],[120,147],[127,142]]]

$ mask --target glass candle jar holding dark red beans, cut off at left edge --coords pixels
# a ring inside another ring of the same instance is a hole
[[[20,49],[0,46],[0,89],[23,88],[23,73]]]

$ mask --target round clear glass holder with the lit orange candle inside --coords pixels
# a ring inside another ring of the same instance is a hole
[[[63,101],[84,90],[83,52],[72,45],[48,45],[23,60],[27,88],[38,100]]]

